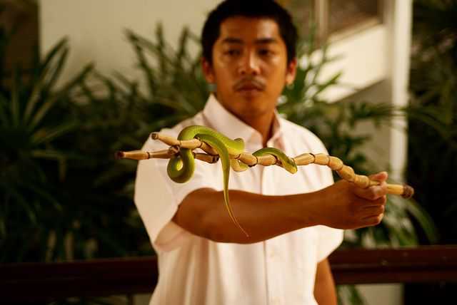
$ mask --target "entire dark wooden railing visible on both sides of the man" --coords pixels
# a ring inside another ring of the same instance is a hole
[[[336,284],[457,281],[457,247],[346,249],[329,257]],[[151,293],[156,257],[0,264],[2,304]]]

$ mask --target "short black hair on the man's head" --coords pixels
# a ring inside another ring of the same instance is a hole
[[[279,34],[286,43],[287,63],[296,56],[297,30],[291,15],[273,0],[225,0],[209,13],[201,31],[203,56],[212,64],[213,46],[219,38],[221,24],[234,16],[268,18],[276,21]]]

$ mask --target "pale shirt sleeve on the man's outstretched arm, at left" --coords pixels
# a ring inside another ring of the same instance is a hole
[[[147,140],[143,150],[163,150],[166,145],[159,141]],[[134,202],[156,252],[167,252],[181,246],[192,235],[171,219],[179,204],[192,191],[202,187],[213,187],[203,162],[196,160],[191,180],[185,183],[172,181],[167,173],[168,159],[139,161],[136,171]]]

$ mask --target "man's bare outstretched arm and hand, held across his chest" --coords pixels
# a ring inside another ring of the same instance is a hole
[[[216,242],[253,243],[303,227],[323,224],[356,229],[381,222],[386,203],[386,173],[372,176],[379,186],[361,189],[341,180],[306,194],[267,196],[229,190],[233,214],[250,235],[231,221],[222,191],[208,188],[187,195],[174,222],[189,232]]]

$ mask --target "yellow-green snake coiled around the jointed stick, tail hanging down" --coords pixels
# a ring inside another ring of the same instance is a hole
[[[191,125],[183,130],[178,135],[178,140],[192,140],[199,139],[201,142],[210,145],[211,148],[214,148],[221,159],[222,172],[224,175],[224,202],[226,205],[226,210],[229,212],[229,216],[236,226],[241,229],[241,231],[246,234],[248,237],[249,234],[241,227],[241,224],[238,223],[236,218],[233,216],[233,211],[231,210],[230,200],[229,200],[229,175],[230,168],[237,172],[242,172],[248,169],[248,165],[243,162],[230,159],[230,155],[237,156],[243,153],[244,151],[244,141],[241,138],[236,138],[231,140],[225,135],[218,133],[216,130],[211,128],[200,126],[200,125]],[[277,160],[281,161],[281,165],[288,172],[296,173],[297,166],[295,162],[288,157],[285,153],[277,148],[261,148],[257,150],[252,155],[260,157],[262,155],[273,155]],[[184,183],[191,179],[194,175],[195,170],[195,160],[194,155],[192,154],[191,149],[189,148],[180,148],[179,155],[175,155],[169,160],[169,164],[166,168],[167,173],[171,180],[178,183]]]

